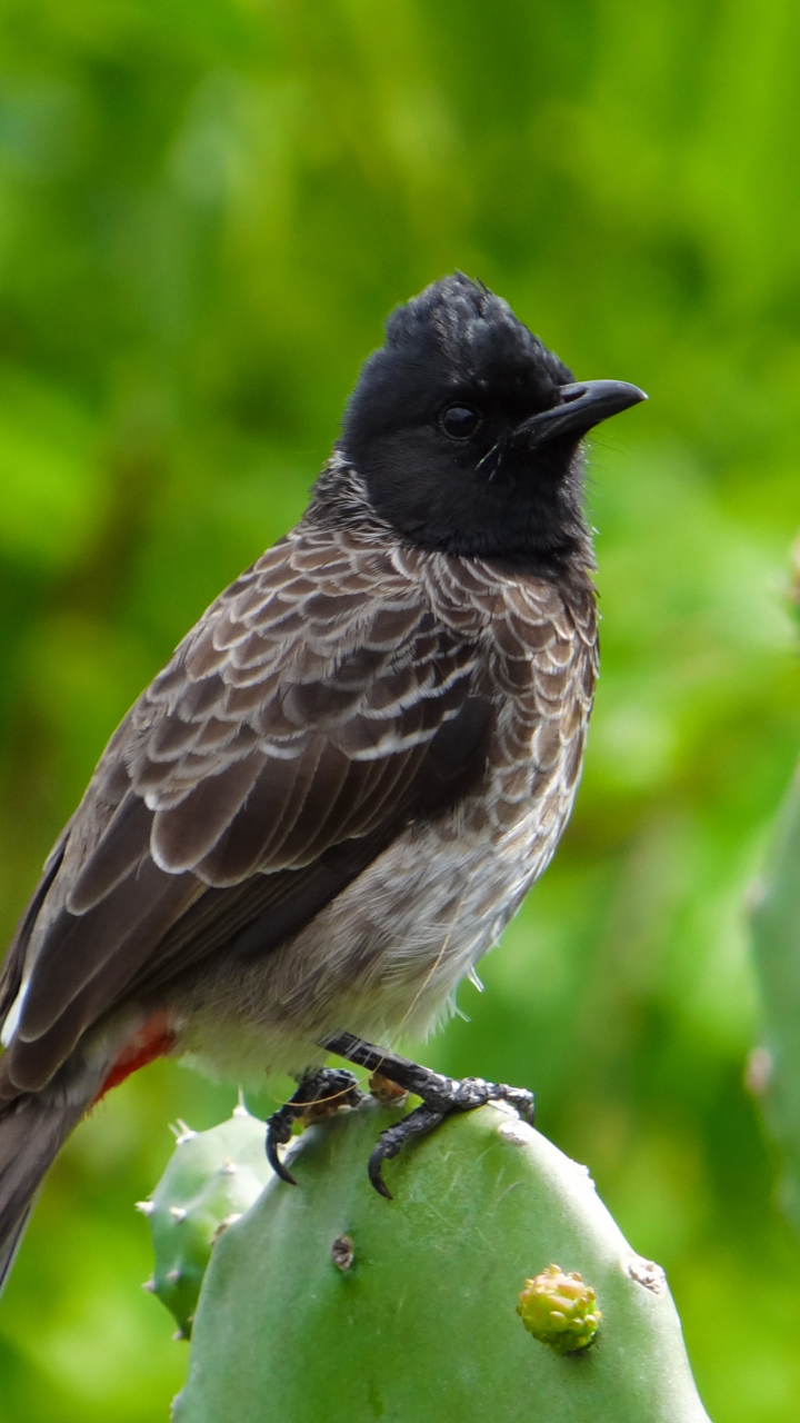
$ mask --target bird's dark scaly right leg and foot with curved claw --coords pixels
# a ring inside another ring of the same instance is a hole
[[[421,1107],[410,1111],[401,1121],[387,1127],[377,1138],[369,1161],[369,1177],[376,1191],[389,1201],[391,1192],[381,1177],[381,1165],[396,1157],[406,1141],[424,1136],[444,1121],[453,1111],[474,1111],[475,1107],[485,1106],[487,1101],[507,1101],[515,1107],[525,1121],[534,1120],[534,1094],[524,1087],[507,1087],[504,1083],[484,1081],[483,1077],[444,1077],[431,1072],[430,1067],[420,1067],[419,1063],[400,1057],[384,1047],[373,1047],[353,1033],[339,1033],[329,1037],[320,1046],[327,1047],[337,1057],[367,1067],[372,1073],[397,1083],[406,1091],[413,1091],[423,1099]]]

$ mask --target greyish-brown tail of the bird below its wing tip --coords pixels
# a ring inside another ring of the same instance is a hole
[[[63,1093],[26,1094],[0,1117],[0,1294],[44,1175],[83,1117],[87,1100]]]

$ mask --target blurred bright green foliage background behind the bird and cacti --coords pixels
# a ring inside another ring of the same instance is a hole
[[[300,514],[394,303],[461,268],[642,384],[592,444],[577,811],[423,1052],[537,1089],[665,1265],[715,1423],[800,1416],[742,908],[800,747],[799,65],[789,0],[0,0],[4,938],[120,716]],[[0,1308],[3,1420],[167,1417],[186,1350],[132,1202],[168,1120],[232,1100],[157,1064],[77,1133]]]

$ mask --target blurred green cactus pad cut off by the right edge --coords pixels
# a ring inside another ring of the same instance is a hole
[[[767,871],[752,895],[752,936],[762,988],[764,1046],[747,1080],[783,1147],[781,1198],[800,1231],[800,777],[779,821]]]

